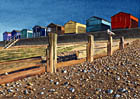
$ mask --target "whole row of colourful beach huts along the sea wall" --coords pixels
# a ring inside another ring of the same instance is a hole
[[[131,14],[119,12],[111,17],[111,22],[96,16],[90,17],[86,20],[86,25],[75,21],[68,21],[64,26],[50,23],[48,26],[43,27],[35,25],[32,30],[22,29],[13,30],[12,32],[4,32],[3,40],[9,41],[14,39],[24,38],[37,38],[47,36],[48,33],[57,33],[58,35],[71,34],[71,33],[88,33],[96,31],[105,31],[107,29],[125,29],[137,28],[138,18]]]

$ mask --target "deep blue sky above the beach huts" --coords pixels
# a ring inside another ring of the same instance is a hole
[[[64,25],[69,20],[86,24],[91,16],[111,21],[111,16],[120,11],[140,20],[139,4],[140,0],[0,0],[0,41],[5,31],[51,22]]]

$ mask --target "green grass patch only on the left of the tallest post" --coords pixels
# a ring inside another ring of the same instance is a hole
[[[45,48],[19,48],[0,51],[0,62],[45,55]]]

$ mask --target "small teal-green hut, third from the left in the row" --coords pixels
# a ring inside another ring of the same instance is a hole
[[[33,31],[28,29],[21,30],[21,38],[32,38],[33,37]]]

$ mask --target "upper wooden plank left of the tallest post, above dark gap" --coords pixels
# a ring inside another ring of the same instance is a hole
[[[13,71],[18,71],[21,69],[41,66],[41,61],[41,57],[33,57],[9,62],[2,62],[0,63],[0,75]]]

